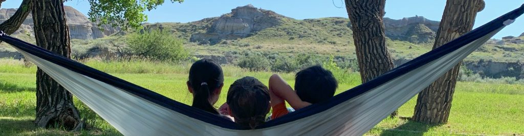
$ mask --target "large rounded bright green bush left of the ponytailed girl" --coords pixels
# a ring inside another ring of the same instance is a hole
[[[183,48],[182,41],[169,32],[158,30],[132,33],[127,39],[133,55],[158,61],[180,61],[189,54]]]

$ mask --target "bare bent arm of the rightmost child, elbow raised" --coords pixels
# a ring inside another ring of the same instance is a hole
[[[273,74],[269,77],[269,96],[271,98],[271,106],[280,104],[283,100],[288,101],[293,109],[300,109],[311,105],[308,102],[302,101],[291,86],[289,86],[288,83],[277,74]]]

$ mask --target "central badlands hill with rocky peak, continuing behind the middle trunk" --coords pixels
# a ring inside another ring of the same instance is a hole
[[[239,6],[220,17],[205,18],[189,23],[146,24],[152,28],[170,28],[179,32],[181,38],[193,42],[217,43],[257,35],[265,38],[294,37],[292,39],[323,39],[335,35],[352,39],[350,21],[347,18],[328,17],[297,20],[253,5]],[[429,43],[434,40],[439,21],[422,16],[399,20],[384,18],[386,36],[392,40],[412,43]],[[268,32],[267,29],[274,29]],[[348,36],[348,37],[345,37]]]

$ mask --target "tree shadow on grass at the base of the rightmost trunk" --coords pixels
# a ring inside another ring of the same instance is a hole
[[[394,129],[387,129],[382,131],[380,135],[424,135],[425,132],[431,128],[442,126],[442,124],[427,124],[410,120],[410,117],[401,118],[406,123],[395,127]]]

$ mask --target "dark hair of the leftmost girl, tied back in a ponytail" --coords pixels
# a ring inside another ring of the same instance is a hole
[[[213,60],[196,61],[189,69],[189,85],[193,88],[193,107],[219,115],[209,98],[213,91],[224,83],[220,65]]]

